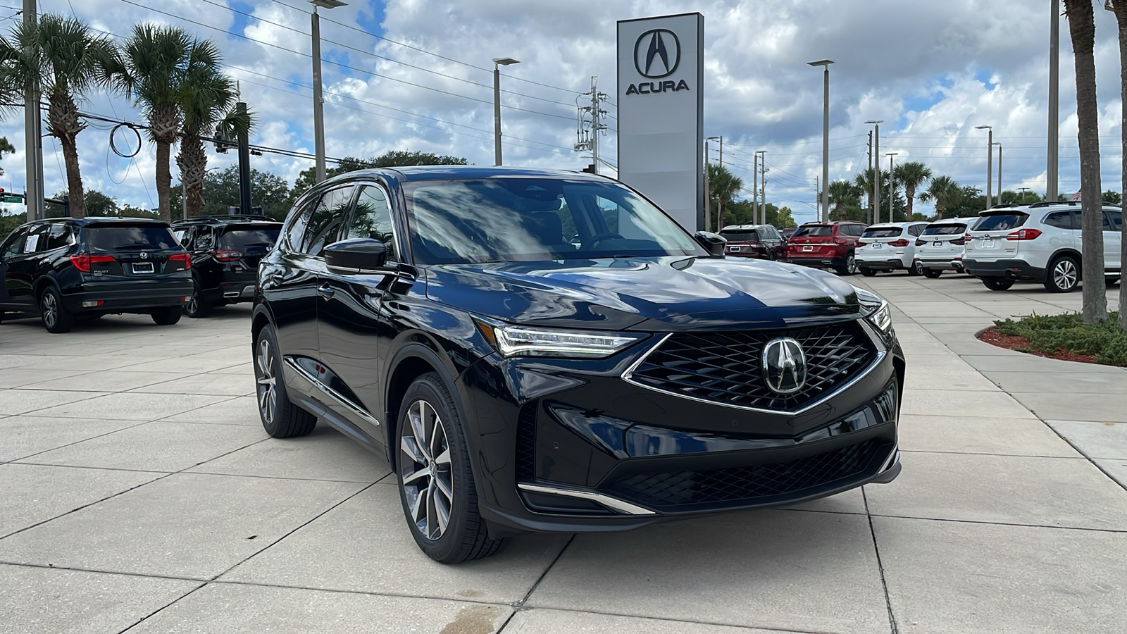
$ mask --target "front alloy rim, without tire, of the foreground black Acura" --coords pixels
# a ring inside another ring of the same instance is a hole
[[[446,429],[435,408],[418,399],[407,410],[408,429],[401,432],[400,486],[407,496],[410,521],[429,540],[442,537],[454,507],[454,474]]]

